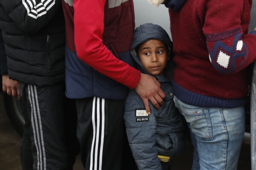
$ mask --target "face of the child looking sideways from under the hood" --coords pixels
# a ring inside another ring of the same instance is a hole
[[[151,75],[162,74],[168,59],[165,43],[160,40],[148,40],[138,48],[138,57],[144,69]]]

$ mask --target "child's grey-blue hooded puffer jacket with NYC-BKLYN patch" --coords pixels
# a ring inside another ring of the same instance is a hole
[[[169,50],[172,50],[172,42],[165,30],[158,25],[146,23],[135,29],[131,55],[138,69],[150,75],[143,68],[136,54],[136,47],[149,39],[161,40],[169,46]],[[144,103],[134,89],[129,91],[125,100],[126,132],[139,170],[162,170],[158,155],[168,156],[171,160],[186,149],[185,124],[174,107],[173,90],[168,78],[171,74],[170,62],[165,72],[169,73],[169,76],[152,75],[161,83],[161,88],[166,94],[160,110],[150,103],[151,114],[145,114]]]

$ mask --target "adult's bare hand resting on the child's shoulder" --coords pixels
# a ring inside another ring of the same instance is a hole
[[[135,91],[141,96],[145,109],[150,114],[149,101],[160,109],[160,105],[164,104],[163,98],[165,98],[165,92],[161,89],[161,84],[150,75],[142,74],[138,85],[135,87]]]

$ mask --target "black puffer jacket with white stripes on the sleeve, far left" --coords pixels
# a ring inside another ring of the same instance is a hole
[[[62,2],[27,1],[0,0],[0,28],[9,77],[39,86],[64,82],[65,20]]]

